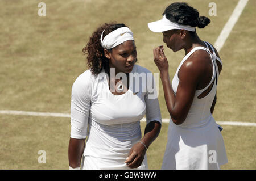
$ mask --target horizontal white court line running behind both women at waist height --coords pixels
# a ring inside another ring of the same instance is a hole
[[[0,110],[0,114],[6,115],[26,115],[26,116],[50,116],[50,117],[70,117],[69,113],[53,113],[53,112],[30,112],[30,111],[13,111],[13,110]],[[162,119],[163,123],[169,123],[170,119]],[[142,118],[141,121],[146,121],[146,118]],[[256,127],[256,123],[248,122],[233,122],[233,121],[217,121],[221,125],[237,125]]]

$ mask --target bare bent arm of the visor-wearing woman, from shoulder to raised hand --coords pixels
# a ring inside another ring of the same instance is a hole
[[[204,60],[204,58],[203,56],[197,56],[196,60]],[[179,86],[175,95],[170,82],[169,66],[167,58],[163,53],[163,47],[154,49],[154,61],[160,70],[167,109],[172,121],[177,125],[182,124],[186,119],[195,96],[196,86],[204,74],[204,65],[201,65],[202,61],[192,60],[189,57],[180,68]]]

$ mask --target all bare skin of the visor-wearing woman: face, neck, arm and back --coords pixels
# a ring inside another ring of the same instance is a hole
[[[169,30],[162,33],[164,43],[174,52],[184,49],[185,54],[188,54],[195,47],[205,47],[204,42],[200,40],[196,33],[193,36],[186,30]],[[214,50],[216,56],[220,57],[217,50]],[[213,66],[209,53],[205,50],[197,50],[183,63],[178,73],[179,86],[177,87],[176,95],[172,90],[169,78],[169,65],[163,52],[163,46],[154,49],[154,61],[160,71],[168,112],[171,115],[172,121],[176,125],[180,125],[188,115],[196,90],[206,87],[212,78]],[[220,72],[222,66],[218,61],[217,65]],[[198,98],[206,96],[211,88],[212,85],[199,95]],[[212,113],[216,99],[215,96],[210,108]]]

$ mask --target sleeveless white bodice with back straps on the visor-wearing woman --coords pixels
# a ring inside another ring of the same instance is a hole
[[[174,93],[176,95],[177,87],[179,86],[178,73],[179,73],[181,66],[187,60],[187,58],[189,56],[191,56],[191,54],[193,52],[195,52],[196,50],[205,50],[210,54],[210,58],[212,60],[212,65],[213,65],[212,79],[210,80],[209,84],[206,87],[204,87],[204,89],[196,90],[191,108],[189,109],[189,112],[188,112],[188,115],[187,115],[184,123],[179,125],[181,127],[200,127],[200,126],[204,125],[207,122],[207,120],[209,120],[208,119],[209,116],[212,116],[212,114],[210,113],[210,108],[212,107],[212,102],[213,102],[213,99],[216,94],[217,80],[218,80],[218,75],[219,75],[216,59],[218,61],[220,61],[221,64],[222,64],[222,62],[221,62],[220,58],[218,58],[216,56],[216,53],[214,52],[214,48],[212,47],[212,45],[210,45],[206,41],[204,41],[204,43],[208,49],[206,49],[204,47],[193,48],[180,62],[180,65],[177,68],[174,78],[172,79],[172,89],[174,90]],[[210,52],[208,44],[212,48],[213,53]],[[210,92],[208,93],[208,95],[205,96],[204,98],[197,98],[200,94],[202,94],[205,90],[208,89],[208,87],[212,84],[213,81],[214,81],[213,87],[210,90]]]

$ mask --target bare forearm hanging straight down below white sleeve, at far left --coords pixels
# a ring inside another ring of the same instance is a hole
[[[84,146],[85,139],[70,138],[68,146],[68,160],[69,166],[72,168],[80,167]]]

